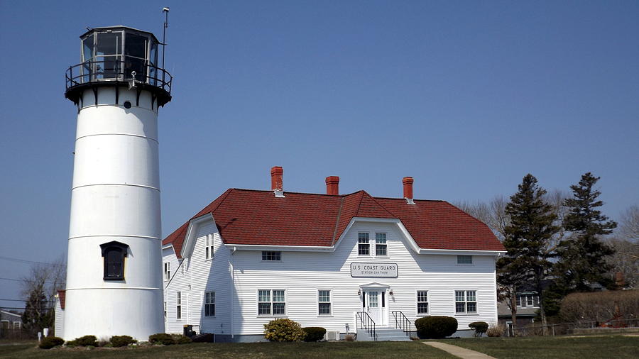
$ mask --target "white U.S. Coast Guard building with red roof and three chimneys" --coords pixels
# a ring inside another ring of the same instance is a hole
[[[413,199],[411,177],[404,198],[376,198],[339,194],[339,177],[327,194],[283,192],[282,173],[271,170],[271,191],[226,190],[165,238],[168,333],[193,325],[216,341],[259,341],[263,324],[288,318],[370,340],[428,315],[454,316],[459,331],[497,323],[505,250],[484,223]]]

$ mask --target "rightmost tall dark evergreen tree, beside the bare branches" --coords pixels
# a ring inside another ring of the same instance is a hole
[[[614,251],[601,241],[600,236],[612,233],[617,223],[608,221],[608,216],[597,209],[603,205],[597,200],[601,192],[593,189],[599,178],[590,172],[582,175],[579,184],[570,186],[573,198],[564,201],[569,209],[564,218],[564,229],[571,235],[557,248],[556,290],[562,294],[591,292],[593,283],[606,287],[612,284],[612,279],[606,276],[610,269],[606,255]]]

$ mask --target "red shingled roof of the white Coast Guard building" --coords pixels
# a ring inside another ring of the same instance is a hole
[[[504,250],[486,224],[446,201],[374,198],[359,191],[339,196],[228,189],[192,219],[212,214],[226,244],[333,245],[353,217],[400,219],[420,248]],[[180,258],[190,221],[163,245],[172,244]]]

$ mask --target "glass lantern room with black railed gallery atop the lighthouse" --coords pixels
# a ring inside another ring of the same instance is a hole
[[[161,44],[153,33],[126,26],[92,28],[80,43],[80,63],[67,70],[68,99],[77,103],[77,90],[125,82],[154,92],[160,105],[170,101],[172,78],[159,67]]]

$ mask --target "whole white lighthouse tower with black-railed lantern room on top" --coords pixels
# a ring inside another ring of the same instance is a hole
[[[164,331],[158,108],[171,76],[152,33],[112,26],[80,39],[65,92],[77,135],[62,337],[146,341]]]

